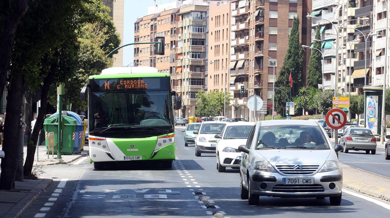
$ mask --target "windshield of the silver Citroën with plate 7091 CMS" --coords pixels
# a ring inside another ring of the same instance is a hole
[[[262,126],[259,131],[257,149],[274,147],[280,149],[326,150],[330,149],[326,137],[319,126]]]

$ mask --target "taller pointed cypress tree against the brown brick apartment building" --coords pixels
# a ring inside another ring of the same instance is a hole
[[[299,19],[294,17],[293,27],[289,36],[289,46],[284,57],[283,66],[280,68],[279,76],[275,81],[275,87],[282,89],[287,95],[291,89],[291,96],[298,93],[303,86],[303,48],[299,39]],[[289,76],[293,79],[293,87],[290,88]],[[279,91],[275,90],[275,107],[279,114],[283,114],[287,98]]]

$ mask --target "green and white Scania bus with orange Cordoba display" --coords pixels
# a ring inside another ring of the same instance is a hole
[[[112,67],[89,77],[80,96],[88,102],[89,156],[94,168],[108,161],[175,160],[170,74],[154,67]],[[177,110],[177,109],[176,109]]]

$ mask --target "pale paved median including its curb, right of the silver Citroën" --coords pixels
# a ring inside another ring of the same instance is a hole
[[[390,201],[390,178],[342,165],[343,186],[353,191]]]

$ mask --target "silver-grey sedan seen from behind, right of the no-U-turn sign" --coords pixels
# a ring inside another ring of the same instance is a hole
[[[349,127],[341,135],[339,143],[344,147],[344,153],[349,150],[376,153],[376,138],[369,128]]]

